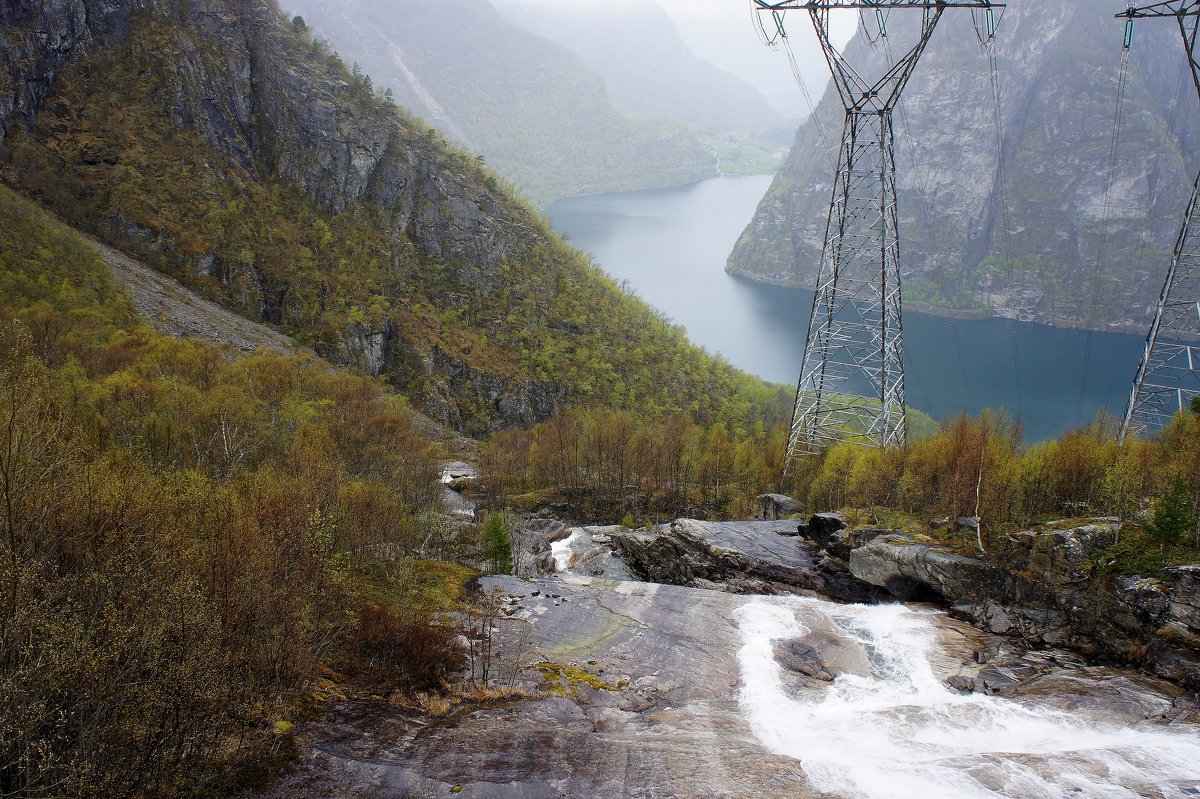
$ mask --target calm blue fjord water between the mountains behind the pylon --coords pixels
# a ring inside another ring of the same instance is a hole
[[[547,209],[554,229],[692,341],[768,380],[794,384],[812,293],[725,274],[725,259],[770,178],[598,194]],[[955,341],[959,346],[955,346]],[[1121,414],[1142,340],[1003,319],[905,314],[908,403],[935,419],[1004,408],[1028,440],[1058,435],[1100,407]],[[961,358],[960,358],[961,350]],[[1019,368],[1018,368],[1019,364]]]

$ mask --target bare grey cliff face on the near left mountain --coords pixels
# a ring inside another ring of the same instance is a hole
[[[178,128],[199,133],[246,178],[293,182],[334,215],[360,202],[385,210],[397,233],[434,258],[491,271],[535,224],[419,126],[355,102],[343,76],[304,52],[263,2],[5,4],[0,55],[14,89],[0,100],[0,144],[10,127],[53,137],[78,115],[70,101],[84,98],[64,97],[53,120],[38,114],[65,70],[79,79],[88,67],[138,59],[157,85],[130,102],[161,102]],[[138,36],[127,41],[131,28]],[[119,122],[119,109],[108,110]]]

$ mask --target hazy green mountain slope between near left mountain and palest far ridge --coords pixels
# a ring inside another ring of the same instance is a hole
[[[506,24],[487,0],[286,6],[401,106],[482,155],[538,202],[716,173],[683,125],[618,113],[578,56]]]

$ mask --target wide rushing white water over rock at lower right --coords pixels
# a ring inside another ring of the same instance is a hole
[[[790,692],[772,642],[806,635],[805,619],[862,644],[869,675]],[[1200,797],[1194,733],[1100,726],[950,690],[929,661],[937,645],[931,611],[756,599],[737,620],[742,710],[758,739],[798,758],[821,791],[856,799]]]

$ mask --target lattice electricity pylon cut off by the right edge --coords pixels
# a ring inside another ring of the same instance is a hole
[[[1174,17],[1183,35],[1192,82],[1200,92],[1200,64],[1196,62],[1196,32],[1200,29],[1200,0],[1174,0],[1147,6],[1133,5],[1117,18],[1126,19],[1124,43],[1133,41],[1134,19]],[[1175,240],[1166,268],[1163,292],[1158,295],[1154,320],[1146,335],[1146,350],[1133,378],[1126,405],[1121,440],[1126,435],[1153,433],[1178,410],[1200,396],[1200,175],[1192,186],[1183,214],[1183,227]]]

